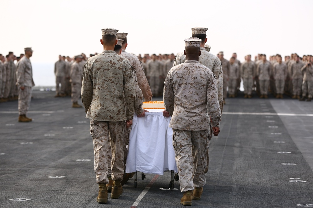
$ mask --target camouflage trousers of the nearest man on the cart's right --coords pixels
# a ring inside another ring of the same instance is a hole
[[[180,190],[185,192],[194,190],[194,187],[204,186],[209,148],[208,130],[184,131],[173,128],[173,147]],[[197,157],[193,157],[192,152],[197,154]],[[197,161],[194,161],[194,158],[197,158]],[[197,165],[194,165],[195,163]]]

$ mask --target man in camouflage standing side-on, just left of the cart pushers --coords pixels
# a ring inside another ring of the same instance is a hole
[[[82,60],[82,56],[75,56],[75,61],[71,65],[71,71],[69,74],[70,77],[70,83],[72,86],[72,94],[71,94],[71,101],[72,101],[72,107],[73,108],[80,108],[81,105],[77,104],[78,99],[80,98],[81,93],[81,83],[82,83],[82,74],[83,69],[80,65],[80,62]]]

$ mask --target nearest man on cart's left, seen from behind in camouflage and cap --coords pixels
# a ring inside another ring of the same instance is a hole
[[[99,184],[99,203],[107,202],[108,158],[112,154],[113,187],[111,198],[122,194],[124,174],[123,137],[130,127],[136,103],[135,78],[129,61],[114,52],[117,30],[102,29],[104,51],[85,64],[81,100],[94,143],[95,173]],[[112,43],[112,40],[115,40]]]

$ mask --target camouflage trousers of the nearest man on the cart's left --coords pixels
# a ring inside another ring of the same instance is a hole
[[[94,169],[97,183],[109,183],[109,167],[112,168],[112,179],[122,180],[124,175],[123,137],[125,121],[90,120],[90,134],[94,144]],[[112,159],[108,156],[110,154]],[[111,161],[110,166],[108,166],[108,161]]]

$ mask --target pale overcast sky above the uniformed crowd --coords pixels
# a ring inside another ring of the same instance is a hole
[[[127,32],[127,52],[175,55],[192,27],[208,27],[211,52],[229,59],[258,53],[313,54],[312,0],[2,1],[0,53],[34,50],[32,63],[59,54],[102,52],[101,29]],[[254,58],[253,58],[254,59]]]

